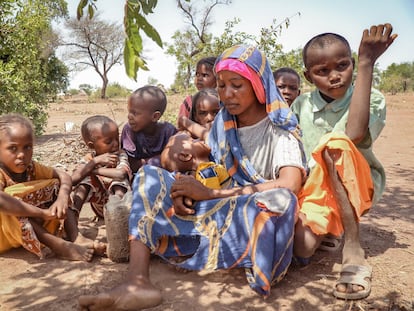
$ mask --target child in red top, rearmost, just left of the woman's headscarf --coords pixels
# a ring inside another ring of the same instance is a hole
[[[216,62],[216,57],[204,57],[197,62],[196,73],[194,77],[194,84],[197,90],[203,90],[205,88],[215,89],[217,87],[216,77],[213,72],[214,63]],[[188,95],[178,110],[178,118],[185,116],[190,116],[190,111],[193,106],[193,98],[191,95]]]

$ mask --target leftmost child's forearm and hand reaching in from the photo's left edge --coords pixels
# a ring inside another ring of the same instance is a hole
[[[3,191],[0,191],[0,211],[5,214],[21,217],[42,218],[45,220],[56,219],[56,214],[51,209],[38,208],[18,200]]]

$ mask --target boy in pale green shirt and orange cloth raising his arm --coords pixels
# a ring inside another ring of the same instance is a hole
[[[323,33],[303,49],[304,74],[316,90],[292,105],[311,168],[299,194],[294,251],[310,257],[325,235],[344,232],[342,270],[333,291],[342,299],[362,299],[371,291],[372,268],[360,245],[358,223],[385,185],[384,169],[372,151],[384,127],[385,101],[371,84],[375,62],[396,37],[390,24],[363,31],[355,85],[355,61],[345,38]]]

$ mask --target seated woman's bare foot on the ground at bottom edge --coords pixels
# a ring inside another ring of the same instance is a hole
[[[126,281],[106,293],[79,297],[81,310],[116,311],[141,310],[159,305],[161,292],[148,280]]]

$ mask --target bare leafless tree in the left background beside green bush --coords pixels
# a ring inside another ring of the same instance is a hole
[[[106,98],[108,73],[122,64],[124,32],[116,23],[108,23],[98,15],[92,19],[71,18],[66,21],[69,31],[63,45],[68,47],[67,57],[75,70],[92,67],[102,79],[101,98]]]

